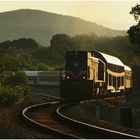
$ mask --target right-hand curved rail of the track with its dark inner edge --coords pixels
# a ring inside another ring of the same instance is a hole
[[[73,106],[74,104],[65,104],[57,108],[56,113],[57,116],[65,123],[68,123],[70,125],[74,125],[77,128],[82,128],[85,131],[88,131],[89,133],[96,134],[97,138],[125,138],[125,139],[140,139],[139,136],[122,133],[106,128],[102,128],[96,125],[90,125],[78,120],[74,120],[66,115],[63,114],[63,111],[66,110],[68,107]],[[90,137],[95,138],[95,137]]]

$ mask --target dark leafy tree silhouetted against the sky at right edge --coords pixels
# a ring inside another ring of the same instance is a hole
[[[140,5],[137,4],[135,7],[132,7],[130,14],[134,16],[136,25],[130,27],[127,31],[129,34],[129,39],[132,44],[140,45]]]

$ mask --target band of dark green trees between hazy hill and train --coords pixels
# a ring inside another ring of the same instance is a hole
[[[65,51],[68,50],[97,50],[118,57],[132,68],[140,67],[140,49],[130,43],[128,36],[97,37],[95,34],[82,34],[71,37],[56,34],[52,36],[50,46],[42,46],[31,38],[0,43],[0,70],[16,70],[17,67],[22,70],[64,68]]]

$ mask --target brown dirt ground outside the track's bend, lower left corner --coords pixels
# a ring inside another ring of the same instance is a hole
[[[21,108],[29,104],[45,102],[42,99],[32,99],[22,104],[16,104],[10,107],[0,107],[0,139],[50,139],[55,138],[52,135],[37,132],[24,124],[20,117]]]

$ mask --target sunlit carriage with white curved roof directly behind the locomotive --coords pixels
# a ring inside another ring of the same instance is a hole
[[[125,91],[124,86],[124,64],[117,57],[101,52],[93,52],[96,57],[101,59],[106,65],[106,83],[108,93],[120,93]]]

